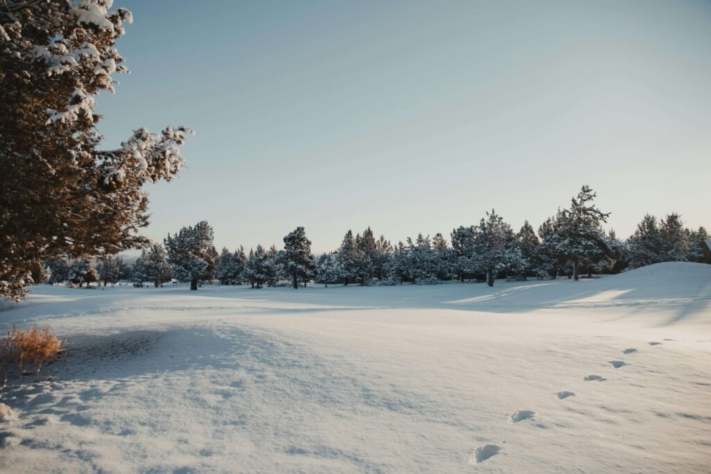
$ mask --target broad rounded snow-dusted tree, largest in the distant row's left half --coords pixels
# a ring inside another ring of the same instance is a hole
[[[212,279],[217,259],[213,238],[213,228],[204,220],[168,235],[164,244],[173,278],[189,281],[191,290],[198,289],[198,282]]]

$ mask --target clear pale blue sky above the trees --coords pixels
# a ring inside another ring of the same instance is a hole
[[[370,226],[392,242],[515,230],[583,184],[634,232],[647,212],[711,227],[711,1],[115,0],[130,75],[103,146],[186,125],[188,168],[150,185],[161,241],[314,252]]]

